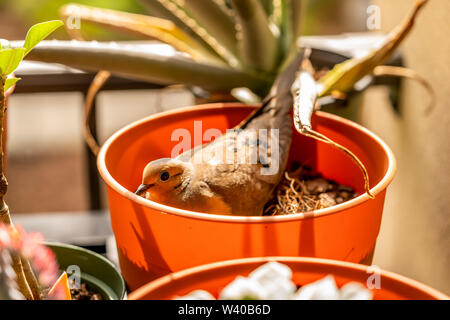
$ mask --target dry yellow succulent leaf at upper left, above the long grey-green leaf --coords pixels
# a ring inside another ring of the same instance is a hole
[[[222,61],[209,47],[205,47],[183,32],[170,20],[78,4],[68,4],[60,9],[63,20],[73,14],[77,14],[83,21],[158,39],[180,51],[189,53],[193,59],[198,61],[215,63]],[[67,31],[74,32],[71,29]],[[77,38],[78,36],[75,34],[72,37]]]

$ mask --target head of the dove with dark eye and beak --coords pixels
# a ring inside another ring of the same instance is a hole
[[[147,164],[142,175],[142,184],[136,194],[160,203],[170,203],[178,190],[189,182],[189,163],[177,159],[159,159]]]

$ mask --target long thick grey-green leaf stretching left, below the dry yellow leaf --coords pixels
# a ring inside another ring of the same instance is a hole
[[[27,58],[90,71],[108,70],[117,75],[161,84],[200,86],[213,91],[248,87],[260,92],[270,83],[258,75],[198,63],[177,53],[117,43],[49,41],[36,47]]]

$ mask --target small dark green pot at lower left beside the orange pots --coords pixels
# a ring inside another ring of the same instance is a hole
[[[81,281],[99,292],[104,299],[122,300],[125,297],[125,281],[117,268],[105,257],[76,246],[46,242],[56,255],[61,270],[75,265],[80,268]]]

